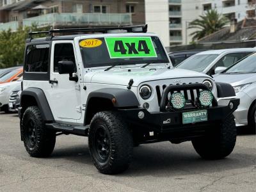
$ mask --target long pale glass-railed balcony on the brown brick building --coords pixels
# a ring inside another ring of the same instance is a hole
[[[111,26],[132,24],[130,13],[51,13],[23,20],[23,26]]]

